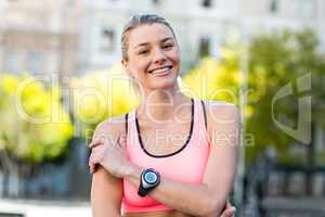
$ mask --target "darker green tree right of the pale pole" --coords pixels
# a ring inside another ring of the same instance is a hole
[[[257,101],[250,101],[252,107],[263,107],[263,110],[259,110],[260,114],[255,113],[253,117],[248,120],[248,129],[257,135],[257,148],[248,149],[248,154],[256,155],[257,150],[263,149],[263,145],[276,146],[281,163],[307,168],[307,193],[311,193],[311,175],[315,163],[323,162],[321,165],[325,163],[325,158],[322,157],[324,153],[315,155],[314,148],[314,129],[316,125],[324,126],[322,117],[325,111],[323,85],[325,55],[321,54],[317,48],[317,37],[311,29],[298,33],[286,30],[280,35],[255,38],[249,52],[251,54],[250,86],[257,88],[258,82],[255,79],[259,77],[259,74],[264,74],[263,81],[266,85],[263,85],[262,89],[256,89],[263,90],[264,94]],[[289,88],[294,90],[292,94],[278,100],[277,110],[270,110],[270,102],[285,88],[287,91]],[[308,105],[309,97],[311,99],[311,110],[308,108],[310,105]],[[302,107],[304,108],[301,110]],[[274,118],[280,119],[281,125],[289,126],[297,131],[289,137],[285,130],[280,130]],[[303,125],[306,129],[302,129]],[[290,150],[292,143],[307,144],[304,145],[306,154],[292,153]]]

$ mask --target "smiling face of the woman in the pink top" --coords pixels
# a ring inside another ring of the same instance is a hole
[[[176,86],[180,68],[179,47],[172,31],[164,24],[143,25],[128,36],[127,73],[144,90]]]

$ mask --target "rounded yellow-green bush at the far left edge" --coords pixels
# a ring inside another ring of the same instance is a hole
[[[73,136],[57,87],[34,77],[0,76],[0,152],[31,164],[62,155]]]

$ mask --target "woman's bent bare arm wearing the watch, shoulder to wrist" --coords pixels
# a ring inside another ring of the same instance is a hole
[[[211,152],[202,184],[161,177],[150,195],[177,210],[195,216],[220,216],[232,189],[237,159],[238,112],[234,105],[213,105],[209,114]],[[132,166],[125,177],[140,184],[140,168]]]

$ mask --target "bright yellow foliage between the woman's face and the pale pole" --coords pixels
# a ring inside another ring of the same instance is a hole
[[[206,56],[183,78],[182,91],[193,98],[221,100],[238,104],[239,53],[230,44],[221,50],[221,60]]]

